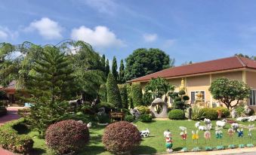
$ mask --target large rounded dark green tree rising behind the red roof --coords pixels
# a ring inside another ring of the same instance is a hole
[[[125,59],[125,80],[139,78],[147,74],[172,67],[174,59],[157,48],[139,48]]]

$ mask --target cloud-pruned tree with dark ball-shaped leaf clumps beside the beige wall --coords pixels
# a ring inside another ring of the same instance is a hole
[[[182,109],[182,110],[187,108],[186,102],[190,100],[190,97],[186,96],[185,94],[186,93],[184,90],[180,90],[178,93],[177,92],[169,93],[169,96],[171,96],[171,99],[174,100],[174,108]]]

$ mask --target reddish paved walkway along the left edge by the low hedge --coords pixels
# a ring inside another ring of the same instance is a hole
[[[0,117],[0,126],[4,123],[7,123],[8,121],[11,120],[17,120],[19,118],[17,111],[22,107],[8,107],[7,111],[8,114],[5,115],[4,117]],[[13,155],[14,153],[11,153],[8,150],[4,150],[0,147],[0,155]]]

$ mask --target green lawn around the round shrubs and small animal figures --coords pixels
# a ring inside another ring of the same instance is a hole
[[[136,150],[133,151],[134,154],[138,153],[165,153],[165,138],[163,137],[163,132],[166,129],[170,129],[173,140],[174,140],[174,151],[178,151],[183,147],[183,141],[180,138],[180,129],[179,126],[186,126],[187,127],[187,147],[189,150],[191,150],[194,146],[196,147],[196,141],[195,144],[193,144],[191,131],[193,129],[196,129],[194,126],[196,122],[195,121],[188,121],[188,120],[157,120],[153,123],[141,123],[137,122],[138,129],[150,129],[150,137],[143,138],[143,141],[141,142],[140,146],[136,148]],[[215,125],[215,121],[212,121],[213,125]],[[249,123],[242,123],[244,125],[248,125]],[[227,129],[230,127],[230,125],[227,123],[225,129],[223,129],[224,132],[224,138],[222,140],[222,144],[227,147],[230,141],[229,136],[227,135]],[[213,126],[214,129],[214,126]],[[244,138],[242,138],[242,143],[247,144],[248,143],[248,129],[244,129]],[[253,130],[253,135],[256,136],[256,130]],[[34,147],[35,147],[35,153],[41,153],[41,154],[52,154],[51,150],[49,150],[46,145],[44,139],[37,138],[37,132],[29,132],[29,135],[32,136],[33,140],[35,141]],[[103,126],[92,126],[90,129],[90,144],[85,147],[85,150],[80,154],[110,154],[107,152],[103,144],[101,143],[101,136],[103,135]],[[221,144],[221,141],[217,141],[217,139],[214,137],[214,130],[211,130],[211,141],[205,144],[205,139],[203,138],[203,132],[199,131],[199,147],[202,149],[206,145],[210,145],[211,147],[216,147],[217,144]],[[233,138],[233,144],[238,145],[239,144],[239,138],[237,137],[237,134],[234,135]],[[253,144],[256,144],[256,138],[253,139]]]

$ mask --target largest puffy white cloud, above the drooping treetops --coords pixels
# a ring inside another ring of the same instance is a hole
[[[122,47],[124,42],[111,32],[106,26],[96,26],[94,29],[80,26],[72,29],[71,38],[85,41],[93,47]]]

